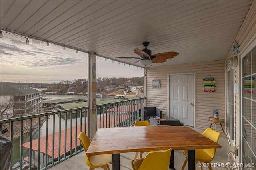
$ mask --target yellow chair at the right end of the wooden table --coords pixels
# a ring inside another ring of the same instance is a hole
[[[219,138],[220,138],[220,132],[217,132],[215,130],[212,130],[211,128],[207,128],[206,130],[204,130],[204,132],[202,133],[202,135],[206,136],[207,138],[209,138],[210,140],[218,143]],[[188,162],[188,151],[187,150],[181,150],[182,154],[184,154],[186,156],[185,160],[184,160],[184,164],[182,166],[182,170],[184,170],[187,162]],[[215,152],[216,152],[216,148],[215,149],[196,149],[195,150],[195,167],[198,161],[200,161],[201,163],[208,163],[209,164],[209,170],[212,170],[211,167],[211,161],[213,160],[214,156],[215,156]],[[204,168],[201,166],[201,170],[203,170]]]

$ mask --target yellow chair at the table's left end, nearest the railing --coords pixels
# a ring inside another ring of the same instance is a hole
[[[112,164],[112,154],[102,154],[102,155],[92,155],[87,156],[86,151],[88,150],[91,142],[88,136],[84,132],[80,132],[77,137],[85,151],[85,162],[90,167],[89,170],[93,170],[95,168],[103,168],[104,170],[110,170],[109,164]]]

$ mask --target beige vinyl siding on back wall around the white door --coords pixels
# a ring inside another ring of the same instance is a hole
[[[146,69],[146,105],[156,106],[163,111],[163,118],[168,118],[168,85],[171,74],[194,74],[195,79],[195,127],[208,128],[208,117],[212,117],[214,109],[219,110],[219,117],[225,118],[225,61],[211,61],[172,65],[164,67],[148,67]],[[203,79],[210,75],[215,79],[216,92],[204,92]],[[160,79],[160,89],[152,89],[152,81]],[[215,128],[215,125],[212,125]],[[224,127],[224,124],[223,124]],[[222,132],[219,124],[217,130]]]

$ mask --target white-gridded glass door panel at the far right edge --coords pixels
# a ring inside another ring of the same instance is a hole
[[[242,153],[244,169],[256,163],[256,47],[242,58]],[[252,168],[251,166],[251,168]],[[252,168],[253,169],[253,168]]]

